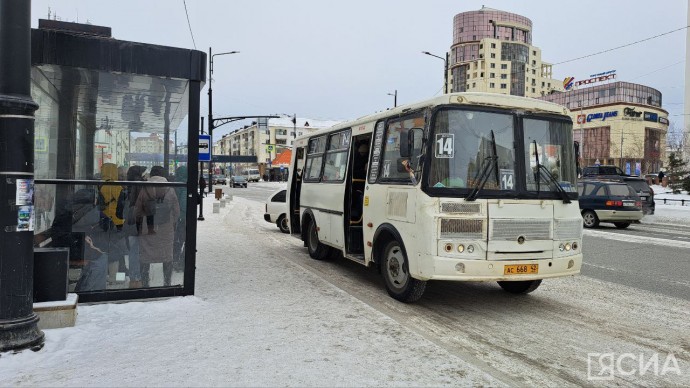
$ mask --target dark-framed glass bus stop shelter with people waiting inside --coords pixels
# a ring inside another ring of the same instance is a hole
[[[193,294],[206,54],[54,20],[31,46],[34,247],[80,302]]]

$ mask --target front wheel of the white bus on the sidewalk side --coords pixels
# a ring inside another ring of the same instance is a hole
[[[386,245],[381,262],[381,273],[388,295],[401,302],[415,302],[422,297],[426,282],[410,276],[407,257],[397,240]]]

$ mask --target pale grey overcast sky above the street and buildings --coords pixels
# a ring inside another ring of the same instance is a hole
[[[113,37],[196,48],[216,56],[215,117],[296,113],[348,120],[438,95],[453,16],[482,5],[532,20],[532,44],[554,78],[616,70],[618,80],[658,89],[682,128],[686,31],[558,64],[687,25],[686,0],[32,0],[32,27],[60,20],[112,28]],[[192,39],[193,36],[193,39]],[[208,88],[201,112],[208,112]],[[231,123],[217,132],[239,127]]]

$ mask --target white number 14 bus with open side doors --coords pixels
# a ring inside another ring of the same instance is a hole
[[[568,111],[499,94],[447,94],[293,142],[290,231],[317,260],[376,266],[413,302],[428,280],[511,293],[582,265]]]

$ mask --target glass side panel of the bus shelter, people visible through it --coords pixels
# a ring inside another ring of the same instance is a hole
[[[187,147],[175,129],[184,80],[130,80],[132,94],[110,96],[112,107],[91,96],[96,112],[58,73],[32,74],[35,246],[70,248],[70,292],[183,285]]]

